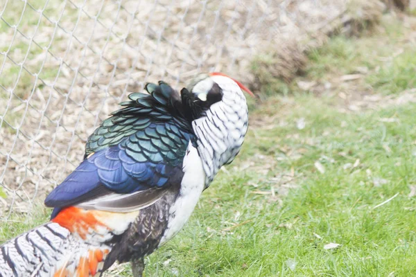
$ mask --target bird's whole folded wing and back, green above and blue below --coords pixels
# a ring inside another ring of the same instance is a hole
[[[150,94],[130,95],[89,137],[84,161],[46,197],[46,206],[55,207],[52,217],[75,205],[135,211],[180,184],[193,134],[171,87],[159,82],[146,89]]]

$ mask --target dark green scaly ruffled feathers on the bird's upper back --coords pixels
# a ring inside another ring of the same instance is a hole
[[[162,134],[176,139],[178,132],[192,134],[192,127],[183,114],[182,99],[179,93],[164,82],[146,84],[148,94],[132,93],[130,101],[121,102],[123,109],[114,111],[89,136],[85,147],[85,157],[111,145],[121,143],[127,136],[144,131],[152,123],[168,123],[166,129],[158,129]],[[158,128],[163,128],[159,125]],[[155,137],[158,134],[148,130],[146,134]],[[173,134],[172,134],[173,133]],[[157,138],[157,137],[156,137]],[[137,139],[141,139],[140,135]]]

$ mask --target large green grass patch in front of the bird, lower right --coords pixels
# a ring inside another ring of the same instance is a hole
[[[310,111],[305,112],[306,104]],[[345,116],[313,96],[302,97],[291,107],[293,114],[284,117],[288,125],[250,132],[239,162],[204,193],[184,231],[150,256],[148,274],[173,276],[173,269],[179,276],[415,274],[415,199],[407,196],[416,179],[415,108],[406,105]],[[302,130],[295,127],[300,115],[306,118]],[[400,123],[379,121],[390,116]],[[302,150],[302,155],[292,158],[281,149]],[[253,169],[239,170],[254,153],[266,159],[254,159]],[[267,175],[261,174],[262,166],[277,159]],[[345,166],[356,159],[360,159],[356,168]],[[324,166],[324,174],[316,170],[316,161]],[[300,188],[282,204],[272,195],[255,194],[270,191],[270,186],[277,190],[278,182],[270,180],[291,168]],[[374,208],[396,193],[391,202]],[[246,223],[221,232],[241,222]],[[324,250],[329,242],[342,246]],[[166,267],[163,262],[168,259]],[[288,268],[290,260],[296,262],[294,271]]]

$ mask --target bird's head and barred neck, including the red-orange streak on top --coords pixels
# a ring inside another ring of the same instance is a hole
[[[187,89],[182,89],[182,102],[198,137],[206,186],[221,166],[231,163],[243,144],[248,129],[243,91],[253,96],[240,82],[216,72],[198,75]]]

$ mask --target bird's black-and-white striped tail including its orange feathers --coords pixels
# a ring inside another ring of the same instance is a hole
[[[104,216],[112,219],[110,213]],[[92,219],[97,222],[96,218],[99,218],[97,214],[93,216],[91,212],[68,208],[53,222],[1,245],[0,276],[100,276],[111,251],[105,241],[114,233],[97,223],[95,226],[88,224]]]

